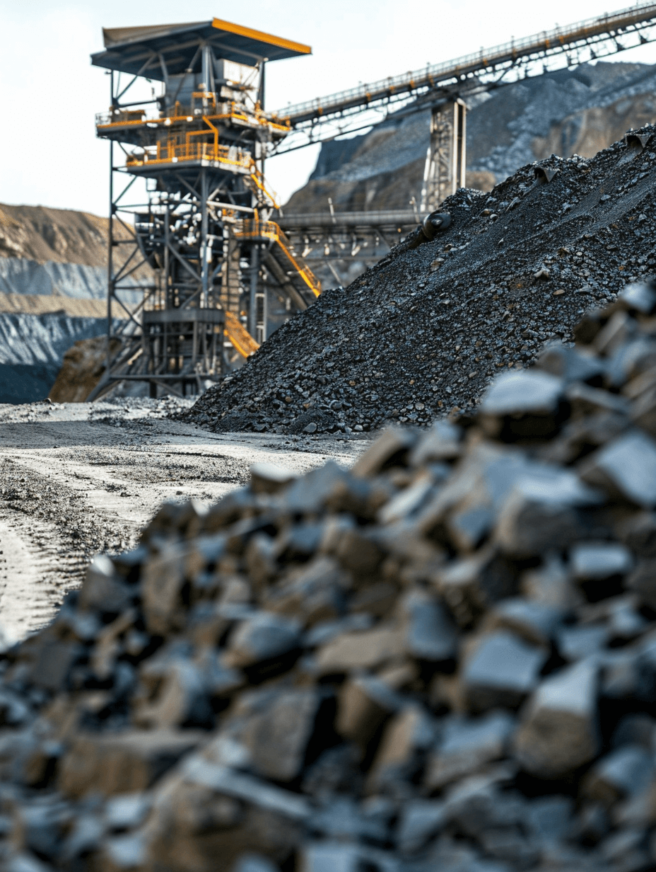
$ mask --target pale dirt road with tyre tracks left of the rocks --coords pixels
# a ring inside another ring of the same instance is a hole
[[[166,501],[212,503],[255,462],[350,465],[364,440],[207,433],[147,400],[0,405],[0,642],[47,623],[99,551],[122,551]]]

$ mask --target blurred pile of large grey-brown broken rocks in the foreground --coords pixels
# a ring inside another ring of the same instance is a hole
[[[99,556],[1,661],[2,869],[653,869],[656,286],[576,335]]]

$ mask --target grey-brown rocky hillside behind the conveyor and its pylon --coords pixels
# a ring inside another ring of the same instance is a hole
[[[524,79],[470,103],[467,187],[490,191],[531,160],[593,154],[630,127],[656,120],[656,68],[581,65]],[[405,209],[421,195],[429,115],[393,117],[370,133],[322,146],[308,185],[287,212]]]

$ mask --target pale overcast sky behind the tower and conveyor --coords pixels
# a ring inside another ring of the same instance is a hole
[[[221,17],[312,45],[311,57],[267,67],[267,107],[311,99],[438,63],[628,3],[599,0],[0,0],[0,202],[107,213],[109,146],[94,115],[107,108],[109,77],[89,55],[102,27]],[[656,44],[622,60],[656,63]],[[270,160],[267,176],[286,200],[314,167],[312,148]]]

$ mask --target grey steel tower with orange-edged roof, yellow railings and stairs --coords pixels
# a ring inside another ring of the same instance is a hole
[[[96,119],[111,145],[108,313],[118,303],[125,319],[109,319],[92,396],[123,379],[147,380],[153,396],[158,385],[199,392],[266,338],[268,300],[280,321],[321,290],[269,221],[277,203],[264,178],[267,151],[290,131],[264,111],[265,64],[311,50],[217,18],[103,35],[91,62],[111,77]],[[159,94],[132,99],[153,80]]]

